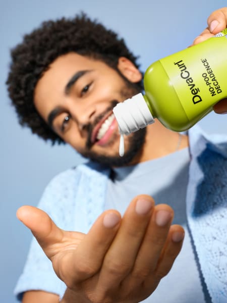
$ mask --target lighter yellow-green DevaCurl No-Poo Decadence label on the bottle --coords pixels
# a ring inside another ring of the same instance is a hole
[[[219,39],[210,38],[160,60],[190,121],[201,119],[227,96],[227,29],[221,33]]]

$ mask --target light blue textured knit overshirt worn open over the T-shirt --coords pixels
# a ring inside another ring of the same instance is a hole
[[[198,127],[189,131],[191,163],[187,217],[201,272],[213,303],[227,302],[227,136],[208,138]],[[96,163],[56,176],[38,205],[60,228],[87,233],[103,212],[109,169]],[[15,294],[36,289],[63,296],[66,286],[36,240]]]

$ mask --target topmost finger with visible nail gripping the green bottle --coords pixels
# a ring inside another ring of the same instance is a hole
[[[217,34],[226,28],[227,24],[227,8],[221,8],[214,11],[207,19],[209,31],[213,34]]]

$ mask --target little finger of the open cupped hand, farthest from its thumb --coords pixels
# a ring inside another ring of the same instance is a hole
[[[184,240],[184,229],[180,225],[172,225],[158,261],[155,276],[160,279],[171,270],[175,259],[181,251]]]

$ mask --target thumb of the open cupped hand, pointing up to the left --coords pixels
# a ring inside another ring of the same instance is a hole
[[[60,243],[63,239],[64,232],[56,226],[50,217],[42,210],[32,206],[22,206],[17,211],[17,218],[27,226],[39,245],[50,259],[50,245]]]

